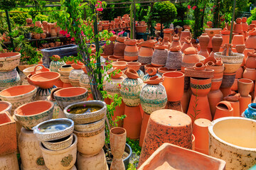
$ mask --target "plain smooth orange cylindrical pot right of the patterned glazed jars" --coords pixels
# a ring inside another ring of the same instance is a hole
[[[184,89],[184,74],[182,72],[166,72],[163,77],[163,86],[166,89],[168,101],[181,101]]]

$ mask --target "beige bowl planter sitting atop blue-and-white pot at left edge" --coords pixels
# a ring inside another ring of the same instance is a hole
[[[18,52],[5,52],[0,54],[0,72],[11,72],[21,60],[21,54]]]

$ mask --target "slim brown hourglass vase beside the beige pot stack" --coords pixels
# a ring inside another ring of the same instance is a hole
[[[110,130],[110,148],[113,154],[111,170],[125,170],[122,155],[124,154],[126,137],[124,128],[112,128]]]

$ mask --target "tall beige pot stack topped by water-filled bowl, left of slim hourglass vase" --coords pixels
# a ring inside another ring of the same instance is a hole
[[[103,101],[81,101],[65,107],[64,113],[75,123],[74,134],[78,137],[78,170],[107,170],[107,161],[102,149],[105,145],[107,104]]]

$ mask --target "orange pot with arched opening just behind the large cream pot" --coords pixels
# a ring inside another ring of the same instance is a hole
[[[228,116],[233,116],[234,110],[228,101],[220,101],[216,106],[216,111],[213,120],[218,118],[224,118]]]

